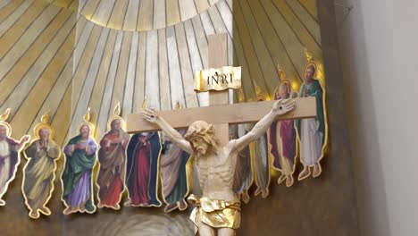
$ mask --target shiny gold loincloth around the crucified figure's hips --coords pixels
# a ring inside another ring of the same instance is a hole
[[[241,223],[240,202],[211,200],[209,198],[196,198],[193,194],[188,202],[196,207],[190,214],[190,220],[195,223],[195,234],[199,222],[206,223],[213,228],[238,229]]]

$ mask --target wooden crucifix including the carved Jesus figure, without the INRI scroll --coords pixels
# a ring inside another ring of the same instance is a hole
[[[208,38],[209,66],[228,63],[227,34]],[[210,91],[209,106],[128,115],[128,132],[164,131],[179,147],[195,157],[203,196],[190,196],[195,204],[190,220],[200,235],[234,235],[240,223],[239,198],[232,190],[238,151],[258,139],[273,121],[316,116],[314,97],[229,104],[228,90]],[[196,122],[197,121],[197,122]],[[252,131],[230,139],[229,125],[257,122]],[[184,138],[175,129],[188,127]],[[216,131],[216,132],[215,132]]]

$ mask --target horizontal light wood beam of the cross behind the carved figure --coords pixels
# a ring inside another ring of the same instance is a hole
[[[295,98],[295,100],[295,110],[278,117],[278,120],[305,119],[314,118],[316,116],[314,97]],[[194,107],[173,111],[161,111],[159,112],[159,115],[175,129],[186,128],[192,122],[196,121],[205,121],[212,124],[258,122],[265,114],[268,114],[272,110],[272,105],[274,105],[275,102],[276,101],[264,101]],[[129,114],[127,130],[130,133],[136,133],[160,131],[161,129],[156,124],[146,122],[141,114]]]

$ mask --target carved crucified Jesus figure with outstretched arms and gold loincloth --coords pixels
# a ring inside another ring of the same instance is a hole
[[[204,121],[193,122],[184,138],[154,110],[142,111],[146,121],[158,125],[173,143],[195,156],[202,198],[191,195],[188,201],[195,204],[190,220],[195,223],[196,232],[202,236],[235,235],[240,224],[240,203],[232,189],[238,152],[258,139],[282,114],[295,108],[291,99],[278,100],[269,114],[255,124],[246,135],[230,140],[221,147],[215,138],[212,124]]]

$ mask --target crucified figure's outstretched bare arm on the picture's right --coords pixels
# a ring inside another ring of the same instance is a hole
[[[279,115],[287,114],[295,108],[295,100],[289,98],[284,100],[278,100],[272,107],[272,111],[266,114],[263,119],[257,122],[253,130],[247,132],[246,135],[239,139],[230,140],[230,145],[240,151],[247,147],[252,141],[260,138],[267,129],[272,125],[272,122],[276,120]]]

